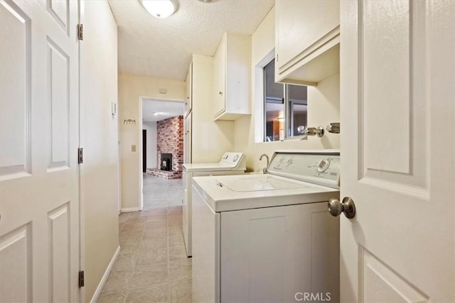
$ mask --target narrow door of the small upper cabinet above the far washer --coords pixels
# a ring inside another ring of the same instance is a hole
[[[217,116],[221,112],[225,111],[225,37],[221,40],[220,46],[218,46],[218,50],[213,58],[213,116]]]

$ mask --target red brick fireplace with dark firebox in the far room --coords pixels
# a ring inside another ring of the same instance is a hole
[[[182,177],[183,116],[175,116],[156,122],[156,156],[157,168],[147,170],[147,174],[166,179],[180,179]],[[171,163],[171,167],[163,169],[164,163],[166,165]]]

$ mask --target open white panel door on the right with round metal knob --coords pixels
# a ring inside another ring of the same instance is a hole
[[[455,1],[341,1],[341,302],[455,302]]]

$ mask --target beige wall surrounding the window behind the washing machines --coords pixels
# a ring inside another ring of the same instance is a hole
[[[252,116],[235,121],[236,151],[247,155],[249,171],[262,170],[265,162],[259,162],[259,156],[266,153],[270,157],[275,150],[289,149],[326,149],[340,147],[340,137],[327,133],[322,138],[309,137],[306,141],[289,140],[277,142],[259,142],[262,138],[262,75],[258,73],[264,65],[264,58],[273,58],[274,50],[274,9],[252,35]],[[340,121],[340,75],[332,75],[319,82],[317,87],[308,89],[309,126],[326,126],[330,122]],[[259,143],[255,143],[255,141]],[[264,160],[263,160],[264,161]]]

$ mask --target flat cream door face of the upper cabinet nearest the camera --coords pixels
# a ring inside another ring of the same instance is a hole
[[[278,69],[340,24],[339,1],[280,0],[276,1],[275,7]]]

